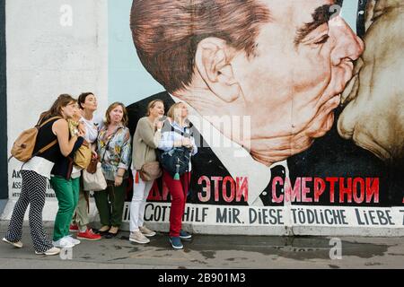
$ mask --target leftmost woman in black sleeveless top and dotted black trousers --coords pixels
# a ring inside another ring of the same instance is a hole
[[[53,103],[52,107],[40,117],[40,122],[46,125],[40,127],[37,135],[37,142],[33,154],[48,143],[57,140],[58,144],[53,145],[46,152],[42,152],[27,161],[21,171],[22,191],[20,198],[13,209],[13,215],[8,227],[4,242],[12,244],[16,248],[22,248],[22,222],[24,214],[30,204],[30,230],[33,247],[36,254],[57,255],[59,248],[55,248],[43,229],[42,210],[45,205],[45,194],[47,190],[47,178],[50,179],[50,171],[55,162],[60,158],[69,155],[75,146],[76,141],[83,140],[83,137],[75,135],[69,139],[69,127],[67,118],[73,117],[75,113],[76,100],[70,95],[62,94]]]

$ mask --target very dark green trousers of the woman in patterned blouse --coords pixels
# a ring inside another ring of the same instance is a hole
[[[108,187],[102,191],[95,191],[95,204],[100,213],[101,226],[120,227],[125,204],[127,180],[123,180],[120,187],[115,187],[114,182],[107,180]]]

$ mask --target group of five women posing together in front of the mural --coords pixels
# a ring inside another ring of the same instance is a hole
[[[60,248],[73,248],[80,244],[79,239],[115,237],[122,223],[130,162],[134,190],[130,205],[129,240],[145,244],[150,241],[148,237],[156,234],[144,225],[145,201],[154,180],[144,181],[139,172],[145,163],[156,161],[156,149],[167,152],[183,146],[192,155],[198,152],[193,137],[184,136],[187,129],[189,131],[188,109],[183,103],[174,104],[163,121],[162,100],[150,102],[146,117],[137,123],[133,149],[125,106],[119,102],[111,104],[103,123],[95,120],[96,109],[96,97],[87,92],[81,94],[78,100],[62,94],[47,112],[42,113],[34,156],[22,165],[22,192],[14,206],[4,242],[22,248],[22,222],[28,204],[31,239],[36,254],[57,255]],[[77,123],[73,125],[75,128],[72,128],[72,123]],[[163,125],[168,128],[163,128]],[[39,152],[50,143],[55,144],[45,152]],[[94,193],[101,221],[101,229],[97,232],[88,227],[89,192],[83,190],[82,169],[74,162],[75,152],[83,144],[91,149],[92,158],[101,161],[101,170],[107,181],[105,190]],[[163,170],[162,178],[171,192],[171,246],[183,248],[181,239],[191,238],[189,233],[181,230],[189,172],[181,175],[180,180],[174,180],[167,170]],[[55,190],[59,207],[53,240],[48,239],[42,222],[47,179]],[[77,239],[69,231],[77,231]]]

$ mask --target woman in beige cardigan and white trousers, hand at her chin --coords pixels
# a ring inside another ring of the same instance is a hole
[[[156,161],[155,149],[162,137],[162,121],[164,115],[162,100],[153,100],[147,106],[147,116],[137,122],[133,137],[132,171],[134,175],[133,197],[130,204],[130,236],[129,240],[145,244],[150,242],[147,237],[155,235],[153,230],[144,226],[145,202],[153,187],[154,180],[144,181],[139,170],[146,162]]]

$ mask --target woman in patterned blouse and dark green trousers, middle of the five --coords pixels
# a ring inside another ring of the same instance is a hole
[[[105,117],[107,120],[98,135],[98,155],[107,189],[95,192],[94,196],[101,220],[99,232],[110,239],[118,234],[122,224],[131,140],[127,110],[122,103],[111,104]]]

